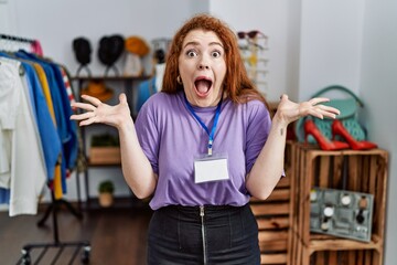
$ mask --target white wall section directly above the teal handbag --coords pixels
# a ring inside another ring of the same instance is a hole
[[[360,88],[362,0],[303,0],[299,100],[329,85]]]

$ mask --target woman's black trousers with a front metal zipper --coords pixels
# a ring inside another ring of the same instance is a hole
[[[165,206],[149,225],[148,264],[260,264],[258,224],[244,206]]]

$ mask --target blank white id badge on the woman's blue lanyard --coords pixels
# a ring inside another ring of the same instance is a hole
[[[203,183],[208,181],[229,179],[227,170],[227,155],[202,155],[194,158],[194,182]]]

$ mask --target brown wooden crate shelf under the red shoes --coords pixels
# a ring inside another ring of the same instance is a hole
[[[292,146],[291,178],[296,184],[291,189],[291,264],[383,264],[387,162],[388,153],[382,149],[323,151],[303,144]],[[311,233],[310,192],[313,187],[373,194],[371,242]]]

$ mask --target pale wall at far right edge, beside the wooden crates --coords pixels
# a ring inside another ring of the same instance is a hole
[[[397,2],[366,0],[360,96],[369,138],[389,151],[385,264],[397,261]]]

